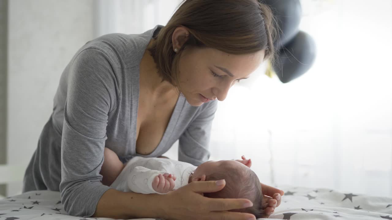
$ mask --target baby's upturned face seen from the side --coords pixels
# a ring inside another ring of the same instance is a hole
[[[244,164],[236,161],[236,160],[219,160],[219,161],[207,161],[198,166],[196,170],[193,172],[193,175],[191,177],[191,181],[205,181],[205,176],[214,173],[217,168],[220,168],[223,170],[227,170],[229,172],[230,170],[234,169],[240,169],[240,170],[247,170],[249,167],[245,166]]]

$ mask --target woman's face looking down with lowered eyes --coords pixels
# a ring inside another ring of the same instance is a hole
[[[233,55],[212,48],[185,48],[179,61],[181,92],[192,106],[207,99],[225,100],[229,88],[246,80],[264,58],[264,51]],[[205,98],[204,98],[204,97]]]

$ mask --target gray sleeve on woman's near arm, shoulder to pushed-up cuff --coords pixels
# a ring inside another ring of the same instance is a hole
[[[92,216],[105,191],[103,163],[108,113],[116,105],[114,71],[101,50],[82,50],[70,67],[61,142],[60,193],[73,216]]]

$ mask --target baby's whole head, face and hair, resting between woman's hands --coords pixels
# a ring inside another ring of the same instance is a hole
[[[189,179],[193,181],[209,181],[225,179],[225,187],[215,193],[204,193],[210,198],[247,198],[252,201],[253,206],[245,209],[231,211],[251,213],[256,218],[261,218],[264,210],[260,180],[256,173],[241,162],[236,160],[207,161],[194,171]]]

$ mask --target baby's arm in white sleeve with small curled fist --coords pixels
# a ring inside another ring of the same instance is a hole
[[[127,181],[132,192],[163,194],[173,190],[174,180],[176,180],[176,177],[172,174],[136,166],[132,168]]]

